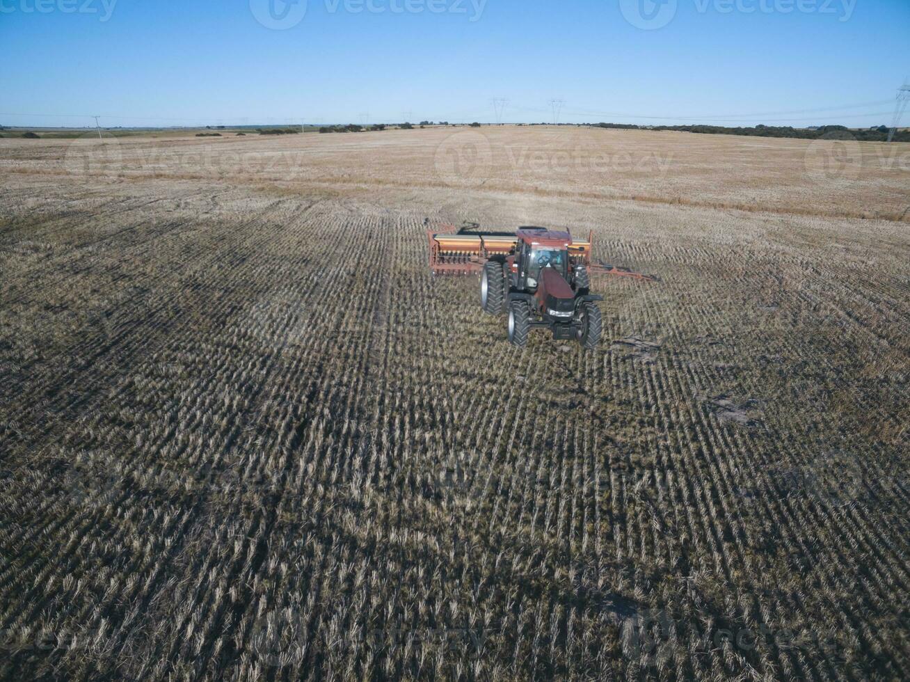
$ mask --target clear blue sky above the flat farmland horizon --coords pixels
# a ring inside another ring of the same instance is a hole
[[[0,0],[0,123],[492,122],[503,97],[513,122],[561,99],[572,123],[871,126],[908,27],[906,0]]]

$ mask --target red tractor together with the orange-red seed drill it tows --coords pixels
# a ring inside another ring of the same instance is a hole
[[[514,234],[485,233],[470,224],[456,233],[430,238],[434,274],[480,270],[480,305],[490,315],[509,316],[509,341],[528,342],[532,327],[546,327],[554,339],[575,339],[587,350],[601,341],[602,296],[590,292],[589,271],[653,280],[639,272],[591,265],[591,238],[573,240],[567,231],[519,228]]]

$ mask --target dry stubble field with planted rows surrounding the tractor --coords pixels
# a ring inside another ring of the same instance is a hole
[[[0,677],[910,676],[910,146],[0,140]],[[594,235],[505,341],[424,222]]]

